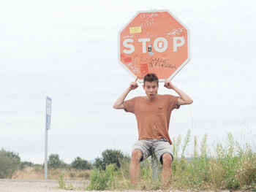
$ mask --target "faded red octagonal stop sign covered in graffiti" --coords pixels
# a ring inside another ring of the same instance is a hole
[[[118,62],[140,82],[171,80],[189,60],[189,29],[168,10],[140,11],[118,33]]]

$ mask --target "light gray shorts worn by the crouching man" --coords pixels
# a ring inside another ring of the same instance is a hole
[[[165,153],[169,153],[172,158],[173,154],[171,153],[170,143],[165,139],[142,139],[135,142],[132,150],[140,150],[142,153],[142,157],[140,161],[148,158],[152,153],[157,156],[158,161],[162,164],[162,155]]]

